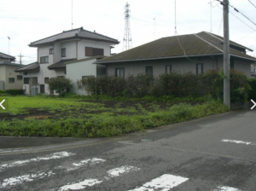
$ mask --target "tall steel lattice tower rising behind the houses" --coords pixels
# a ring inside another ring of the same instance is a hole
[[[131,26],[130,26],[130,5],[126,2],[125,4],[125,32],[123,39],[123,50],[131,49],[132,41],[131,41]]]

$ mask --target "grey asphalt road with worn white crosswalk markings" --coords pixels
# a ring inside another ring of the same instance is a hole
[[[0,190],[256,190],[254,111],[48,150],[0,152]]]

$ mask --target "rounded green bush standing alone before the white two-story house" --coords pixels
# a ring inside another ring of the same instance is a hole
[[[49,90],[55,90],[60,96],[64,96],[72,88],[71,80],[68,78],[49,78]]]

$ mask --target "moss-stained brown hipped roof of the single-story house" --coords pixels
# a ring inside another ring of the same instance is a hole
[[[213,37],[208,32],[199,32],[197,34],[160,38],[96,61],[96,63],[183,57],[185,56],[184,51],[186,56],[223,55],[223,49],[224,45],[218,38]],[[236,49],[230,49],[230,55],[256,61],[253,56],[246,55]]]

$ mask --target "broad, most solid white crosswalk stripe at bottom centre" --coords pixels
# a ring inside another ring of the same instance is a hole
[[[177,177],[173,175],[162,175],[153,179],[151,182],[144,183],[142,187],[131,189],[129,191],[154,191],[154,189],[161,189],[161,191],[167,191],[171,188],[177,187],[179,184],[189,180],[187,177]]]

